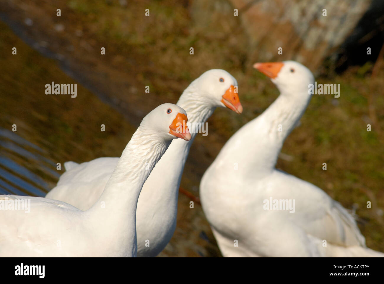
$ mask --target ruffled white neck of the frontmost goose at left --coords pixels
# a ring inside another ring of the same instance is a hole
[[[142,186],[171,141],[146,135],[140,126],[123,150],[99,200],[87,210],[89,214],[121,219],[124,223],[132,216],[136,220]]]

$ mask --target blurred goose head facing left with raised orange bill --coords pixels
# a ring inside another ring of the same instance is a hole
[[[296,61],[255,63],[253,68],[270,77],[283,94],[308,94],[308,85],[314,84],[311,71]]]

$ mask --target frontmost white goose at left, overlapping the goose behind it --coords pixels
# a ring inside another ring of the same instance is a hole
[[[101,197],[86,211],[43,197],[0,195],[0,208],[5,209],[0,210],[0,256],[136,256],[136,206],[142,185],[172,139],[191,138],[183,126],[186,120],[185,110],[174,104],[162,104],[147,114]],[[10,210],[26,198],[30,212]]]

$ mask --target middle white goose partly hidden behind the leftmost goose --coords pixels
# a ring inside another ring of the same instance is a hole
[[[227,71],[212,69],[184,90],[177,105],[187,111],[189,123],[195,124],[204,123],[216,107],[241,113],[235,86],[236,79]],[[136,213],[138,257],[159,254],[175,231],[180,180],[195,135],[188,142],[174,140],[142,188]],[[66,162],[66,172],[46,197],[88,209],[103,192],[117,161],[104,157],[82,164]]]

